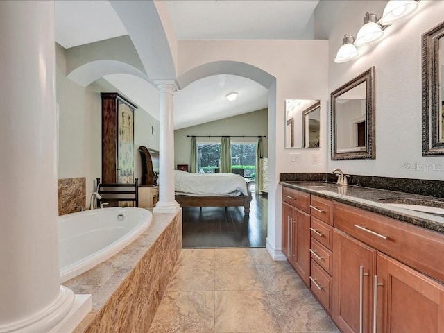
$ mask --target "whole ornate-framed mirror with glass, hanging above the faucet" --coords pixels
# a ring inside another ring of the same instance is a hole
[[[375,67],[331,95],[332,160],[375,156]]]

